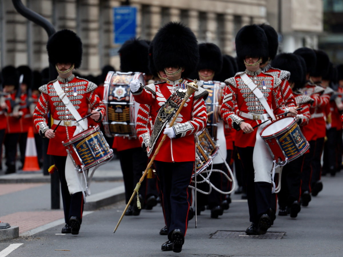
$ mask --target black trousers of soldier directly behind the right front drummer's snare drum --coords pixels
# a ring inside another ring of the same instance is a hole
[[[305,156],[287,163],[281,173],[281,190],[277,194],[279,206],[282,209],[291,207],[294,201],[300,200],[301,195],[301,168],[304,165]]]

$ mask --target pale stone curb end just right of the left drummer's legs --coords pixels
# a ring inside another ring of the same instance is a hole
[[[86,198],[87,201],[85,203],[84,210],[96,210],[98,208],[114,204],[123,199],[125,199],[124,185],[88,196]]]

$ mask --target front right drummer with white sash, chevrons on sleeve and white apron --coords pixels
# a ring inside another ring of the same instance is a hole
[[[269,118],[275,120],[276,114],[285,112],[279,88],[281,79],[260,69],[260,63],[267,62],[269,54],[267,37],[259,26],[247,25],[239,30],[236,51],[237,60],[247,69],[226,79],[221,115],[226,123],[238,130],[235,143],[244,168],[252,222],[246,233],[265,234],[271,226],[273,160],[259,135],[268,122],[255,130],[252,127]],[[289,111],[291,115],[297,114],[296,110]]]

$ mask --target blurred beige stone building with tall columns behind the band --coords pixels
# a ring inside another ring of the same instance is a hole
[[[119,70],[119,57],[115,50],[120,45],[114,44],[113,8],[122,5],[124,0],[22,1],[49,20],[56,30],[68,28],[81,37],[84,52],[79,69],[81,74],[97,75],[106,64],[112,64]],[[319,30],[317,27],[311,30],[312,21],[308,21],[303,27],[295,27],[299,22],[303,24],[301,16],[299,19],[299,16],[289,13],[296,9],[295,5],[299,2],[297,0],[130,0],[129,3],[137,8],[136,32],[142,39],[151,40],[163,24],[179,20],[193,30],[199,42],[213,42],[223,53],[235,55],[235,35],[242,26],[268,22],[270,18],[271,25],[277,28],[278,24],[273,21],[278,20],[275,3],[280,1],[285,2],[282,3],[285,5],[282,8],[288,13],[288,16],[283,16],[285,32],[286,28],[291,28],[291,34],[304,29],[318,33],[321,25],[317,26]],[[287,2],[291,2],[291,7]],[[310,8],[307,11],[309,16],[313,12]],[[292,20],[293,25],[286,25],[289,15],[295,17]],[[0,0],[1,67],[28,64],[34,70],[45,68],[48,65],[45,49],[47,39],[44,29],[18,14],[11,0]]]

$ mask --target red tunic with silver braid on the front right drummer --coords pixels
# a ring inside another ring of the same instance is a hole
[[[246,73],[261,90],[274,114],[284,113],[285,106],[279,87],[281,79],[268,73],[262,73],[261,70],[256,72],[246,71]],[[262,81],[264,81],[266,89],[263,89]],[[260,120],[251,120],[239,116],[240,111],[258,115],[267,113],[262,103],[253,93],[251,93],[250,88],[244,83],[243,79],[241,79],[240,74],[226,79],[225,83],[225,96],[221,107],[221,116],[224,121],[231,124],[235,129],[239,128],[241,121],[249,123],[252,127],[261,123]],[[235,146],[255,146],[256,133],[257,129],[248,134],[243,134],[243,131],[238,130],[236,132]]]

